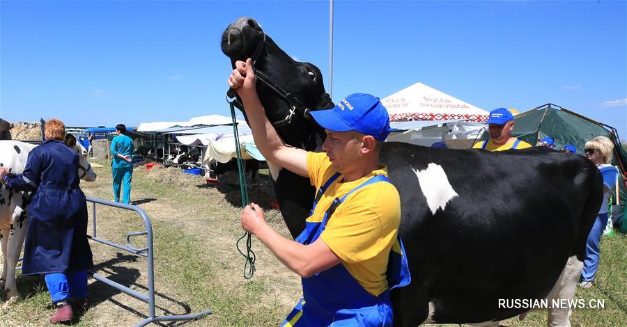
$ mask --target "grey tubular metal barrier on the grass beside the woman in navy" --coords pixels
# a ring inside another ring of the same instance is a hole
[[[153,321],[180,321],[180,320],[192,320],[198,319],[200,317],[211,314],[211,310],[207,309],[203,312],[197,312],[194,314],[185,314],[185,315],[164,315],[164,316],[155,316],[155,279],[154,279],[154,262],[153,262],[153,226],[150,224],[150,218],[144,210],[135,205],[125,205],[119,202],[112,202],[109,200],[103,200],[99,198],[92,198],[90,196],[87,197],[87,202],[91,202],[92,208],[92,223],[93,223],[93,235],[87,235],[89,239],[92,241],[97,241],[102,244],[107,244],[108,246],[113,246],[114,248],[118,248],[120,250],[125,250],[127,252],[133,253],[134,255],[141,255],[142,257],[146,257],[148,259],[148,294],[143,294],[141,292],[137,292],[134,289],[130,289],[125,287],[124,285],[119,284],[118,282],[114,282],[113,280],[109,280],[104,276],[98,275],[98,273],[91,273],[95,280],[99,280],[100,282],[104,282],[105,284],[114,287],[116,289],[121,290],[122,292],[133,296],[135,298],[139,298],[139,300],[148,303],[148,318],[140,321],[139,324],[135,325],[136,327],[146,326]],[[144,221],[144,227],[146,230],[143,232],[132,232],[126,235],[126,246],[121,244],[112,243],[110,241],[98,238],[98,230],[96,225],[96,203],[100,205],[108,205],[109,207],[117,207],[126,210],[132,210],[137,212],[141,219]],[[134,248],[130,244],[131,237],[139,237],[141,235],[146,235],[146,247],[145,248]]]

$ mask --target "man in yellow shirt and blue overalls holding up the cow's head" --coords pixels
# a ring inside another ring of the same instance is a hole
[[[318,189],[295,241],[275,232],[258,205],[242,212],[242,228],[302,277],[303,299],[283,326],[392,326],[389,289],[407,285],[410,276],[398,239],[400,198],[379,163],[390,131],[387,110],[377,97],[355,93],[333,109],[312,111],[327,133],[325,152],[306,152],[284,144],[268,121],[250,59],[235,67],[229,86],[268,165],[309,177]]]

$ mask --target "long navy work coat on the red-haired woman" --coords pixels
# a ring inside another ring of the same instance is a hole
[[[22,174],[7,186],[35,191],[29,206],[22,275],[81,271],[93,266],[87,241],[87,204],[79,188],[79,157],[62,141],[35,147]]]

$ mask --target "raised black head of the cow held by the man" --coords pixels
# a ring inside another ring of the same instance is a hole
[[[231,58],[233,68],[235,61],[252,58],[256,70],[263,72],[272,83],[293,95],[306,109],[327,109],[334,106],[325,92],[318,67],[311,63],[300,63],[288,56],[270,36],[265,35],[261,26],[252,18],[241,17],[226,28],[222,34],[222,52]],[[272,90],[259,79],[257,93],[270,122],[285,120],[290,115],[292,108],[284,95]],[[306,150],[315,150],[320,138],[325,135],[323,129],[301,113],[295,113],[288,124],[275,127],[286,143]]]

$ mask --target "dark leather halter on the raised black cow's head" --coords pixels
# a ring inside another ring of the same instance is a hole
[[[288,115],[286,115],[284,119],[277,122],[272,122],[272,125],[274,127],[284,127],[286,125],[289,125],[292,122],[292,118],[295,113],[300,113],[300,115],[302,115],[307,120],[311,120],[312,122],[314,122],[314,118],[311,118],[311,114],[309,113],[310,109],[305,108],[302,105],[302,102],[300,102],[300,100],[295,95],[288,93],[277,83],[274,83],[274,81],[272,81],[272,79],[270,79],[267,74],[265,74],[261,70],[258,70],[255,67],[257,59],[259,58],[259,56],[261,55],[261,51],[263,51],[263,48],[265,47],[265,32],[262,33],[263,38],[259,42],[259,45],[257,45],[257,48],[255,49],[255,52],[251,57],[253,72],[258,81],[261,81],[265,84],[265,86],[268,86],[270,90],[273,90],[274,93],[277,93],[277,95],[279,95],[279,97],[287,102],[288,106],[290,107],[290,113],[288,113]],[[229,99],[235,98],[235,90],[233,90],[233,88],[229,88],[229,91],[226,92],[226,97],[228,97]],[[244,107],[244,105],[238,99],[233,99],[231,102],[237,104],[241,108]]]

